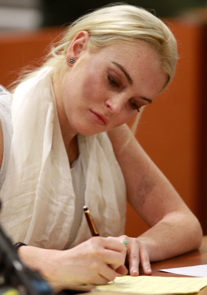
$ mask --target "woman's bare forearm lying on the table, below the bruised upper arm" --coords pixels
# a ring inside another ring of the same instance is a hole
[[[150,261],[164,260],[198,249],[202,229],[191,212],[171,212],[138,237],[148,249]]]

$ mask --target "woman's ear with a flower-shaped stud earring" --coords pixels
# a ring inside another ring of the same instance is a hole
[[[88,31],[80,31],[75,35],[66,52],[67,64],[69,66],[72,66],[80,54],[87,49],[89,37]]]

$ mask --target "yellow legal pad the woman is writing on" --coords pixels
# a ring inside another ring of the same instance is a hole
[[[136,294],[187,294],[207,286],[207,278],[174,278],[153,276],[116,277],[107,285],[96,286],[100,291],[129,292]]]

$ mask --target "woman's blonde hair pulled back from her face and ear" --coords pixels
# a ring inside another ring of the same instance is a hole
[[[177,43],[172,32],[151,12],[123,3],[110,4],[78,18],[69,25],[62,40],[52,47],[45,63],[35,71],[25,74],[17,82],[21,83],[35,76],[46,66],[54,67],[54,73],[59,73],[65,62],[68,46],[75,35],[82,30],[89,32],[88,48],[93,51],[114,42],[135,40],[150,42],[159,53],[162,70],[168,77],[164,88],[171,82],[177,61]]]

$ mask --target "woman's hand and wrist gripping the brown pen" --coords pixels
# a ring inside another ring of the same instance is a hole
[[[106,284],[113,281],[116,276],[128,273],[124,266],[126,253],[127,247],[114,237],[92,237],[63,251],[31,246],[19,249],[23,262],[38,269],[53,286]]]

